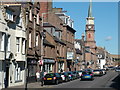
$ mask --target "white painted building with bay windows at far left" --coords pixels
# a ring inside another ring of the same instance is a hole
[[[0,6],[0,89],[25,82],[26,30],[21,5]]]

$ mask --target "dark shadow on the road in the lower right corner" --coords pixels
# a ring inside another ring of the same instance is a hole
[[[120,74],[112,80],[110,87],[120,90]]]

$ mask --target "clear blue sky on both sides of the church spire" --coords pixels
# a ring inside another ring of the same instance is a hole
[[[89,2],[54,2],[53,7],[67,10],[66,14],[74,20],[75,38],[81,39],[81,34],[85,33]],[[118,3],[93,2],[92,15],[95,17],[96,45],[105,47],[111,54],[118,54]]]

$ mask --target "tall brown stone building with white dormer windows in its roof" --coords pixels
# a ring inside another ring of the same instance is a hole
[[[44,6],[44,8],[42,6]],[[73,21],[69,16],[62,13],[61,8],[52,8],[51,2],[42,2],[42,6],[40,12],[43,22],[48,22],[55,27],[55,30],[52,32],[55,32],[53,36],[56,42],[57,52],[56,72],[60,72],[61,69],[69,71],[71,67],[73,67],[72,62],[74,62],[75,30],[73,29]],[[63,15],[63,17],[61,17],[61,15]],[[47,31],[49,30],[47,29]],[[67,55],[72,57],[67,59]]]

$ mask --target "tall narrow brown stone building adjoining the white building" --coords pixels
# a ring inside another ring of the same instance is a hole
[[[40,71],[40,60],[42,57],[42,22],[40,17],[40,3],[29,2],[25,5],[25,15],[27,24],[27,80],[36,81],[36,72]]]

